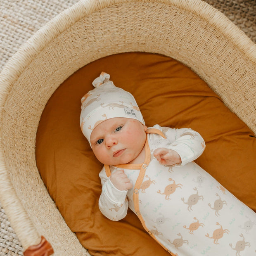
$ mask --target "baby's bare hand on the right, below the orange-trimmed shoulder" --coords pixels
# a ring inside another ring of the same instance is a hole
[[[181,163],[180,155],[172,149],[159,147],[154,151],[154,156],[156,157],[157,161],[163,165],[174,165]]]

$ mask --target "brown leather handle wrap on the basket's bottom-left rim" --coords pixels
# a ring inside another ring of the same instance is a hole
[[[53,249],[51,244],[41,236],[41,242],[36,245],[31,245],[24,251],[24,256],[49,256],[53,254]]]

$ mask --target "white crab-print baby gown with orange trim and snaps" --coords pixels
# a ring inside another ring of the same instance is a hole
[[[182,163],[159,164],[153,155],[159,147],[178,152]],[[129,207],[171,255],[256,255],[256,213],[193,162],[204,148],[194,130],[149,128],[143,164],[102,168],[101,212],[117,221]],[[133,188],[114,187],[108,177],[118,169],[124,170]]]

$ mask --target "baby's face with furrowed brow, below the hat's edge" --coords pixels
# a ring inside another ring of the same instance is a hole
[[[142,151],[146,130],[147,126],[135,119],[107,119],[97,125],[91,133],[92,151],[102,164],[128,164]]]

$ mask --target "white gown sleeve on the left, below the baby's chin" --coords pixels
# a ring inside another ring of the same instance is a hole
[[[104,167],[99,176],[102,183],[102,192],[99,199],[100,211],[110,220],[123,219],[128,210],[127,190],[118,190],[107,177]]]

